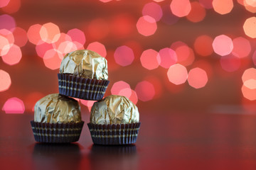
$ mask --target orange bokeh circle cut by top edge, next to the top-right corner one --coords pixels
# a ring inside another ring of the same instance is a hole
[[[230,13],[233,6],[233,0],[213,0],[214,11],[222,15]]]

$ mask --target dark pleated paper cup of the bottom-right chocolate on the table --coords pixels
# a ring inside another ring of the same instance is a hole
[[[136,142],[141,123],[121,125],[96,125],[87,123],[87,125],[94,144],[129,145]]]

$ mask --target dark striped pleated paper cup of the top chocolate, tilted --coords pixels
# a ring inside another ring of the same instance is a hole
[[[59,93],[84,100],[100,101],[110,81],[85,79],[71,74],[58,74]]]

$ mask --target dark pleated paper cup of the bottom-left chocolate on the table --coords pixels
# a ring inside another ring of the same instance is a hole
[[[36,142],[70,143],[80,138],[82,126],[80,123],[37,123],[31,121],[31,127]]]

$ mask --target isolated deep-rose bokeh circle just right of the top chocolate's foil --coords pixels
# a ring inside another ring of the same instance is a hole
[[[117,47],[117,49],[114,51],[114,61],[123,67],[132,64],[133,60],[134,52],[126,45]]]

